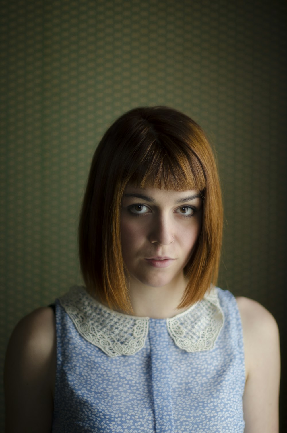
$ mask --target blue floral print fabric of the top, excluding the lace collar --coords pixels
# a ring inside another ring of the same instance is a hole
[[[138,352],[108,356],[56,301],[52,433],[243,433],[241,320],[233,295],[216,291],[224,323],[214,347],[196,352],[176,346],[166,319],[149,319]]]

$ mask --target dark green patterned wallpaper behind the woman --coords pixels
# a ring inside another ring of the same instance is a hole
[[[207,132],[225,204],[219,284],[284,325],[285,18],[271,0],[0,2],[1,368],[17,320],[81,280],[92,154],[140,105],[175,107]]]

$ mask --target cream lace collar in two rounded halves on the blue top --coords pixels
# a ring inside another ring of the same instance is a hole
[[[59,301],[81,336],[108,356],[133,355],[144,346],[153,319],[110,310],[80,286],[72,287]],[[212,349],[224,321],[216,288],[183,313],[160,320],[166,320],[167,330],[180,349]]]

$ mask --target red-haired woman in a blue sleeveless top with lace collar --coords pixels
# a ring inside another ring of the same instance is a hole
[[[82,205],[86,287],[11,336],[7,432],[277,432],[277,325],[215,288],[221,238],[202,129],[167,107],[121,116]]]

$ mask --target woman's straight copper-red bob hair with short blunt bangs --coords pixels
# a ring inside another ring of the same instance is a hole
[[[202,229],[178,308],[200,301],[218,276],[223,218],[215,159],[200,126],[172,108],[135,108],[111,125],[92,159],[78,230],[82,275],[91,295],[132,312],[120,233],[127,184],[200,191]]]

